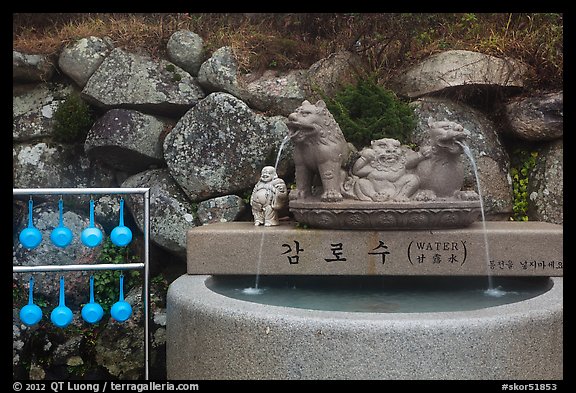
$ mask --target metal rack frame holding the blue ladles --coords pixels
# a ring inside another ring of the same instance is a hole
[[[60,272],[91,270],[144,270],[142,302],[144,306],[144,377],[149,379],[150,369],[150,293],[149,293],[149,242],[150,242],[150,188],[13,188],[12,195],[102,195],[102,194],[142,194],[144,197],[144,262],[143,263],[101,263],[87,265],[38,265],[12,266],[14,273]]]

